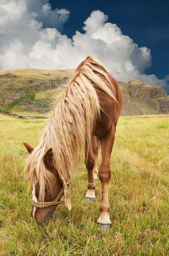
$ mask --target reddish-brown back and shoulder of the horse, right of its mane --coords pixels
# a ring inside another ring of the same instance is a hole
[[[112,96],[116,99],[115,101],[113,97],[106,93],[106,90],[102,90],[98,85],[93,83],[101,106],[100,118],[96,122],[96,128],[93,131],[93,135],[101,138],[110,129],[111,125],[116,126],[117,124],[122,109],[122,94],[118,82],[93,56],[87,56],[86,60],[82,61],[76,68],[75,73],[79,73],[82,70],[87,60],[90,60],[93,67],[97,68],[93,69],[93,73],[104,81],[105,88],[109,88]],[[99,73],[98,69],[101,70],[101,73]]]

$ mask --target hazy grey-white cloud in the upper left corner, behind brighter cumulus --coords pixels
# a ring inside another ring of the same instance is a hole
[[[51,10],[48,0],[0,0],[0,70],[31,67],[34,44],[50,41],[48,29],[62,31],[69,15],[66,9]]]

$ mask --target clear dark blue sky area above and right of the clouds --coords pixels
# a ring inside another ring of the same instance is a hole
[[[116,23],[124,35],[139,47],[151,49],[152,67],[147,75],[159,79],[169,75],[169,0],[50,0],[52,9],[70,11],[62,34],[71,38],[76,30],[84,33],[84,21],[92,11],[108,15],[108,22]]]

